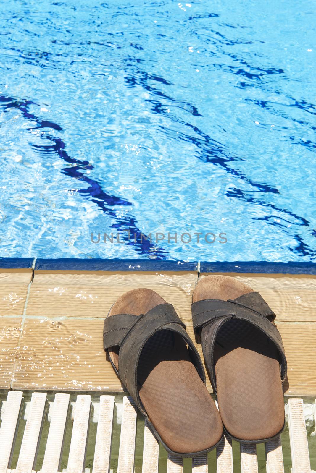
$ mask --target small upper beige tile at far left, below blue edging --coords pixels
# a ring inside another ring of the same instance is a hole
[[[32,270],[0,270],[0,315],[22,315]]]

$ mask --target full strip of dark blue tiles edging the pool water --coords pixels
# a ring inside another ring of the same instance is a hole
[[[0,269],[32,269],[35,258],[0,258]],[[39,271],[199,271],[262,274],[314,274],[316,263],[273,263],[267,261],[184,262],[156,260],[121,260],[117,258],[38,258]]]

